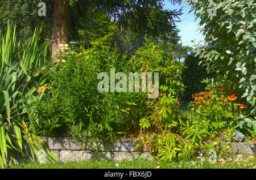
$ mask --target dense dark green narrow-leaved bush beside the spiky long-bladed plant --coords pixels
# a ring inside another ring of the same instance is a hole
[[[98,73],[110,72],[111,67],[129,72],[126,56],[116,49],[93,48],[60,58],[57,67],[49,68],[48,93],[35,106],[38,131],[47,136],[69,132],[92,142],[137,131],[138,119],[146,113],[147,93],[98,92]]]

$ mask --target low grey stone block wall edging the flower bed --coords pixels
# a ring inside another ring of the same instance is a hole
[[[62,162],[67,161],[82,161],[94,158],[101,158],[105,160],[131,160],[132,157],[145,157],[152,160],[151,153],[146,149],[143,152],[136,152],[134,149],[137,145],[137,140],[131,139],[118,139],[114,144],[105,141],[105,151],[101,151],[102,144],[98,145],[98,150],[88,146],[85,151],[81,149],[79,143],[75,143],[73,138],[46,138],[45,139],[49,150],[59,158]],[[250,143],[251,147],[246,143],[232,143],[233,153],[240,153],[243,155],[255,155],[256,143]]]

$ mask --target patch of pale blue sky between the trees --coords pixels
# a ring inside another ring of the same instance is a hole
[[[183,7],[183,15],[180,16],[181,22],[177,22],[177,29],[180,30],[179,36],[181,36],[181,42],[184,46],[193,46],[192,40],[196,39],[196,44],[199,41],[204,40],[204,36],[200,34],[200,31],[196,31],[198,29],[199,19],[195,22],[195,15],[193,12],[189,12],[191,9],[191,6],[187,5],[185,7],[184,1],[182,1],[181,5],[172,5],[170,1],[165,0],[164,1],[165,8],[168,8],[170,10],[174,9],[180,9]]]

